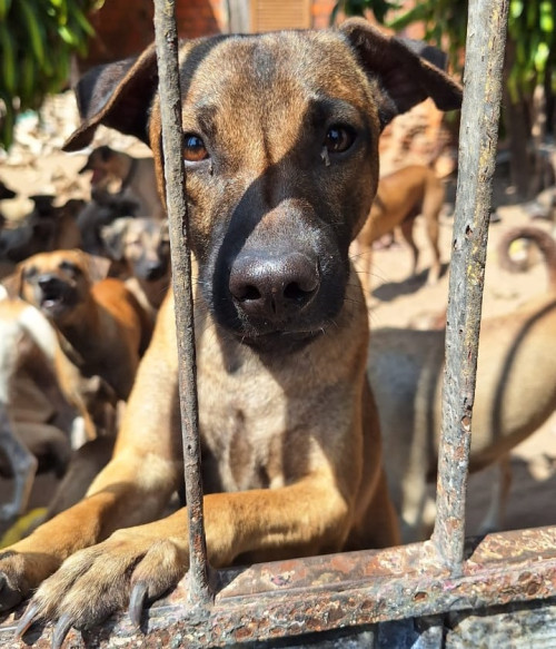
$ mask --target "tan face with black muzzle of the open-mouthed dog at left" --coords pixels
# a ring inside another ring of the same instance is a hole
[[[33,255],[18,267],[19,295],[57,324],[66,324],[88,301],[92,283],[106,276],[102,265],[81,250]],[[106,260],[106,269],[108,265]]]

